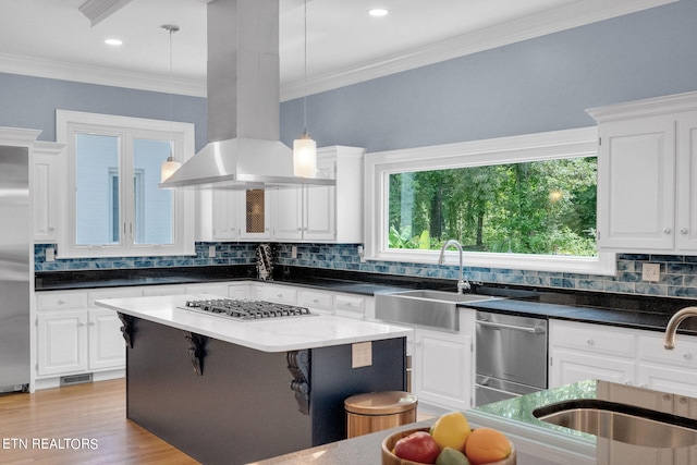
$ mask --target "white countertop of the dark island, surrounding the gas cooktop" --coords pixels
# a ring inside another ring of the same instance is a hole
[[[168,295],[106,298],[95,304],[136,318],[191,331],[220,341],[262,352],[288,352],[313,347],[379,341],[411,335],[407,327],[316,315],[266,320],[239,321],[216,315],[178,308],[201,295]]]

